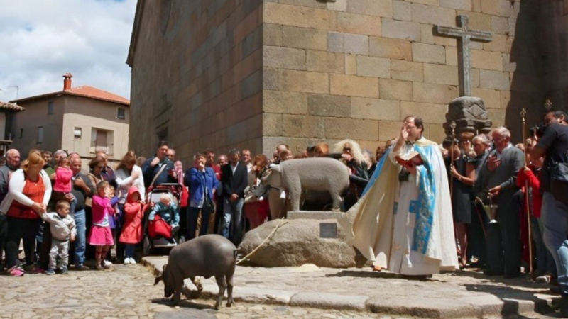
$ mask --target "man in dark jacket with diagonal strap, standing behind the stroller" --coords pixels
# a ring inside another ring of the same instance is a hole
[[[142,165],[142,174],[144,177],[144,185],[146,185],[146,187],[156,186],[164,183],[176,183],[178,181],[172,176],[173,162],[170,161],[167,156],[169,148],[170,147],[168,145],[168,142],[166,142],[165,140],[160,141],[158,143],[158,150],[155,152],[155,155],[149,158]],[[152,185],[154,178],[155,181]]]

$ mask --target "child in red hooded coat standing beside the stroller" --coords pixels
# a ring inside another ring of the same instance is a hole
[[[124,226],[119,238],[124,244],[124,264],[136,264],[134,249],[142,241],[142,208],[140,192],[136,186],[131,186],[124,203]]]

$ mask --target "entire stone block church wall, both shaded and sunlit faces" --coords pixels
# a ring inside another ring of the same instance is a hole
[[[457,40],[432,28],[456,26],[459,14],[493,33],[471,44],[473,94],[520,140],[518,111],[535,122],[544,97],[537,2],[139,0],[131,147],[150,155],[164,135],[182,159],[206,147],[271,155],[282,142],[297,152],[344,138],[373,149],[408,114],[441,141],[458,96]]]

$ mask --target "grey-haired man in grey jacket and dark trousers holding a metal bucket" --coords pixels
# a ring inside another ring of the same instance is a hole
[[[519,211],[522,192],[517,187],[517,175],[525,166],[523,151],[510,143],[507,128],[496,128],[491,133],[495,149],[486,157],[476,179],[475,194],[497,204],[496,224],[487,225],[488,275],[505,278],[520,276],[521,244]]]

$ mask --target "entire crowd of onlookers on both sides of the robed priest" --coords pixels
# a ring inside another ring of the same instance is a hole
[[[130,151],[114,168],[107,154],[98,152],[87,174],[77,153],[32,150],[21,161],[18,150],[11,149],[0,167],[0,256],[5,249],[11,276],[65,274],[70,263],[87,270],[88,259],[97,269],[110,269],[109,259],[135,264],[145,211],[148,220],[164,220],[178,240],[219,233],[239,245],[246,230],[285,217],[285,189],[261,184],[271,165],[307,157],[342,161],[350,173],[342,210],[349,211],[376,178],[386,154],[404,148],[409,132],[417,135],[410,142],[417,142],[422,130],[422,120],[411,117],[401,138],[375,152],[361,150],[354,140],[321,143],[299,154],[278,145],[271,158],[250,150],[216,157],[204,150],[186,171],[165,141],[152,157]],[[521,276],[523,265],[534,266],[537,281],[559,285],[568,295],[567,117],[562,111],[547,113],[528,140],[510,141],[510,131],[500,127],[490,134],[461,133],[439,145],[451,186],[459,267],[482,267],[487,275],[512,278]],[[410,174],[416,172],[410,169]],[[178,196],[146,201],[148,189],[169,183],[182,185]],[[329,207],[325,194],[311,195],[305,196],[303,208]],[[488,216],[490,208],[496,208],[496,216]],[[18,258],[21,242],[24,262]],[[113,247],[114,258],[109,254]],[[529,247],[535,248],[532,259]]]

